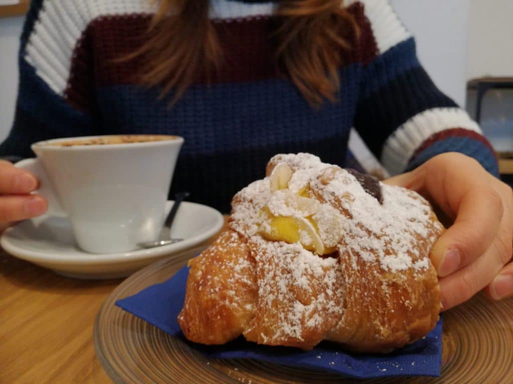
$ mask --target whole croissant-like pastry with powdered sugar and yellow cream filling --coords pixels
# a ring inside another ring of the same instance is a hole
[[[411,190],[310,154],[274,156],[266,177],[233,197],[226,230],[189,261],[179,324],[203,344],[244,335],[391,351],[438,321],[429,252],[442,231]]]

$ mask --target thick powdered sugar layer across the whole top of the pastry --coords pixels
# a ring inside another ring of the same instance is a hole
[[[379,183],[383,199],[380,204],[356,177],[340,167],[322,163],[317,156],[277,155],[269,161],[274,167],[283,163],[293,171],[288,189],[271,194],[266,177],[235,196],[232,219],[236,230],[247,236],[257,233],[266,220],[262,209],[268,206],[274,216],[311,216],[326,247],[337,245],[346,236],[346,247],[367,262],[378,261],[385,271],[427,268],[427,261],[417,260],[419,254],[414,246],[417,236],[432,236],[427,229],[431,208],[422,197]],[[269,174],[272,169],[268,169]],[[305,188],[321,200],[311,211],[299,209],[291,198]],[[302,238],[306,237],[302,234]]]

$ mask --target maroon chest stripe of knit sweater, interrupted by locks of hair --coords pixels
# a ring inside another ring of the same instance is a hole
[[[378,54],[370,23],[360,3],[351,5],[348,10],[360,26],[361,35],[357,49],[343,53],[344,65],[368,63]],[[75,47],[65,93],[76,108],[92,111],[94,87],[136,83],[134,74],[141,68],[141,60],[117,62],[116,59],[141,46],[151,18],[148,14],[101,16],[88,25]],[[272,17],[213,21],[223,60],[211,82],[250,82],[282,76],[269,38]],[[206,81],[199,77],[195,83]]]

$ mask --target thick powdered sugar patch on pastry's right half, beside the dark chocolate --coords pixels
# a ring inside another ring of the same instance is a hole
[[[431,208],[422,197],[405,188],[380,183],[383,196],[380,204],[344,169],[339,168],[330,176],[327,183],[321,175],[310,186],[327,204],[349,212],[346,247],[367,262],[377,255],[385,271],[406,270],[414,264],[417,269],[427,268],[427,254],[423,255],[426,262],[418,263],[420,255],[416,250],[418,237],[432,236],[428,230],[432,228]],[[353,199],[344,199],[344,193]],[[436,229],[440,230],[441,226]]]

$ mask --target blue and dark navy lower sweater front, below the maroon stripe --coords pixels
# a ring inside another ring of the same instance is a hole
[[[193,86],[172,108],[156,101],[155,90],[107,87],[97,93],[102,131],[183,136],[171,193],[189,190],[193,201],[226,212],[233,194],[264,177],[277,153],[308,152],[344,165],[360,71],[346,68],[341,100],[320,111],[283,79]]]

